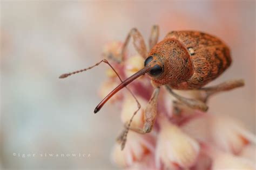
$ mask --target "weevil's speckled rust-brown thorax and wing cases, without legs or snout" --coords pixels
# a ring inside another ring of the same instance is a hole
[[[223,73],[232,61],[224,42],[198,31],[172,31],[149,55],[164,67],[160,77],[152,77],[153,83],[183,90],[205,86]]]

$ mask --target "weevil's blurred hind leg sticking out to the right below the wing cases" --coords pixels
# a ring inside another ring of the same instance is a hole
[[[245,82],[242,79],[230,80],[230,81],[225,81],[223,83],[220,83],[216,86],[200,88],[199,90],[205,91],[205,97],[203,98],[203,102],[206,103],[208,98],[214,94],[217,94],[221,91],[232,90],[234,88],[242,87],[244,85],[245,85]]]

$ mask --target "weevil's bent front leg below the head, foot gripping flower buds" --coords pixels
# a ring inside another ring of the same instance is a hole
[[[118,136],[117,141],[121,143],[121,148],[123,150],[125,143],[126,143],[126,138],[129,130],[132,130],[137,133],[145,134],[149,133],[154,125],[154,122],[156,121],[156,115],[157,115],[157,98],[159,94],[160,88],[157,87],[154,89],[153,94],[151,95],[149,103],[147,103],[145,112],[144,112],[144,126],[143,129],[138,129],[138,128],[132,128],[131,122],[132,118],[130,119],[129,123],[125,125],[124,131]]]

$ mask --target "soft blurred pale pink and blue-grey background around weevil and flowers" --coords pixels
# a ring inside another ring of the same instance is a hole
[[[209,112],[240,119],[255,133],[254,1],[1,1],[0,168],[117,169],[110,152],[123,127],[118,110],[93,114],[107,66],[58,76],[98,62],[103,46],[123,41],[132,27],[147,41],[153,24],[160,39],[172,30],[199,30],[230,46],[232,66],[211,84],[243,78],[246,86],[212,97]]]

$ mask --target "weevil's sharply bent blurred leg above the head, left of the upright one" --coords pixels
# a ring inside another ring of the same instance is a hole
[[[126,51],[126,48],[129,44],[130,38],[132,37],[133,39],[133,46],[136,49],[136,51],[143,56],[143,58],[147,58],[147,49],[146,49],[146,45],[144,42],[144,39],[142,37],[142,34],[140,34],[140,32],[136,29],[133,28],[131,29],[131,31],[129,32],[129,34],[127,35],[125,42],[124,42],[124,46],[122,49],[122,60],[124,59],[124,54]]]

